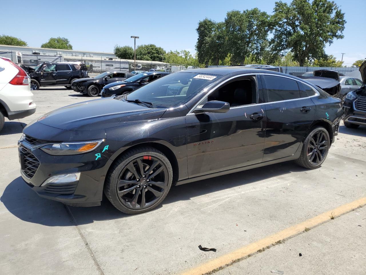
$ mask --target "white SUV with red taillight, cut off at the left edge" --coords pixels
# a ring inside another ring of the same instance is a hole
[[[35,111],[29,76],[9,58],[0,57],[0,131],[4,117],[15,120]]]

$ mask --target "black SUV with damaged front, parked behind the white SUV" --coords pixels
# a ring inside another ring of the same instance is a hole
[[[27,66],[23,66],[23,69],[31,78],[31,90],[44,86],[65,86],[71,89],[71,83],[75,79],[88,75],[86,66],[81,62],[42,63],[34,69]]]

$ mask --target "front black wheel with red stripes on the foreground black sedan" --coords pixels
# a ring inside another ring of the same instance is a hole
[[[143,173],[146,175],[141,175]],[[104,194],[123,213],[143,213],[160,205],[172,180],[172,166],[161,151],[153,147],[136,148],[123,154],[112,165],[106,177]]]

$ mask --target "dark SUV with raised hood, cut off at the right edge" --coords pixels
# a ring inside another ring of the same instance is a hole
[[[343,109],[346,111],[343,120],[344,125],[348,128],[366,125],[366,61],[362,63],[359,71],[363,81],[362,86],[355,91],[348,92],[343,102]]]

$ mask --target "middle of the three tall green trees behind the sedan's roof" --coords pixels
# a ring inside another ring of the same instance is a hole
[[[233,63],[258,62],[266,48],[270,28],[269,15],[258,8],[229,11],[225,18],[227,48]]]

